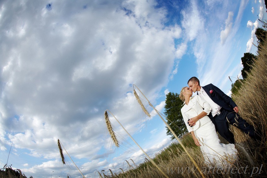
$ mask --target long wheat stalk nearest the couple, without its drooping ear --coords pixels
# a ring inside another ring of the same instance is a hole
[[[141,90],[135,85],[133,84],[133,87],[136,87],[139,92],[144,96],[144,98],[148,101],[149,105],[156,111],[156,113],[160,116],[161,120],[165,123],[165,125],[168,127],[168,129],[172,132],[173,136],[177,139],[177,141],[180,143],[180,145],[182,146],[182,148],[184,149],[185,153],[188,155],[188,157],[191,159],[191,161],[193,162],[193,164],[196,166],[196,168],[198,169],[199,173],[201,174],[201,176],[203,178],[205,178],[203,172],[200,170],[199,166],[197,165],[196,161],[193,159],[193,157],[188,153],[187,149],[185,148],[184,144],[181,142],[181,140],[177,137],[177,135],[174,133],[174,131],[172,130],[172,128],[167,124],[167,122],[162,118],[162,116],[160,115],[160,113],[158,112],[158,110],[156,110],[156,108],[150,103],[150,101],[145,97],[145,95],[141,92]]]

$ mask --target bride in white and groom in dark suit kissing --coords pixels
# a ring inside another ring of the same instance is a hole
[[[192,97],[193,92],[197,95]],[[254,127],[238,115],[238,107],[232,98],[213,84],[201,87],[199,79],[192,77],[179,97],[184,101],[181,109],[183,120],[195,144],[200,146],[206,165],[223,168],[237,159],[234,135],[229,130],[229,124],[253,139],[261,140]],[[221,143],[216,131],[229,144]]]

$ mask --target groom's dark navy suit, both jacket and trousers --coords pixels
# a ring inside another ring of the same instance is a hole
[[[211,100],[221,106],[221,114],[219,116],[215,115],[213,117],[210,113],[209,117],[214,123],[216,130],[223,138],[225,138],[229,143],[235,143],[233,133],[229,130],[228,123],[237,126],[240,130],[252,138],[256,138],[254,127],[249,125],[247,121],[242,119],[242,117],[233,110],[233,108],[237,105],[231,97],[227,96],[213,84],[208,84],[202,88],[209,95]]]

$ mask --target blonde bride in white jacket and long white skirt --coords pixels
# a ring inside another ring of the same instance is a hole
[[[195,144],[200,146],[205,164],[209,167],[224,168],[237,159],[235,145],[220,143],[215,126],[207,116],[211,111],[210,105],[199,95],[191,97],[192,94],[193,91],[190,88],[183,87],[179,95],[184,101],[181,112],[187,130],[192,135]],[[194,126],[188,125],[190,119],[193,119]]]

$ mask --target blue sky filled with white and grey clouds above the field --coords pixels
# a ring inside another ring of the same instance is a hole
[[[258,19],[263,0],[0,1],[0,168],[80,177],[57,139],[85,177],[144,162],[112,114],[153,157],[172,140],[133,85],[161,113],[193,76],[231,95],[229,76],[242,78],[241,57],[257,52]]]

